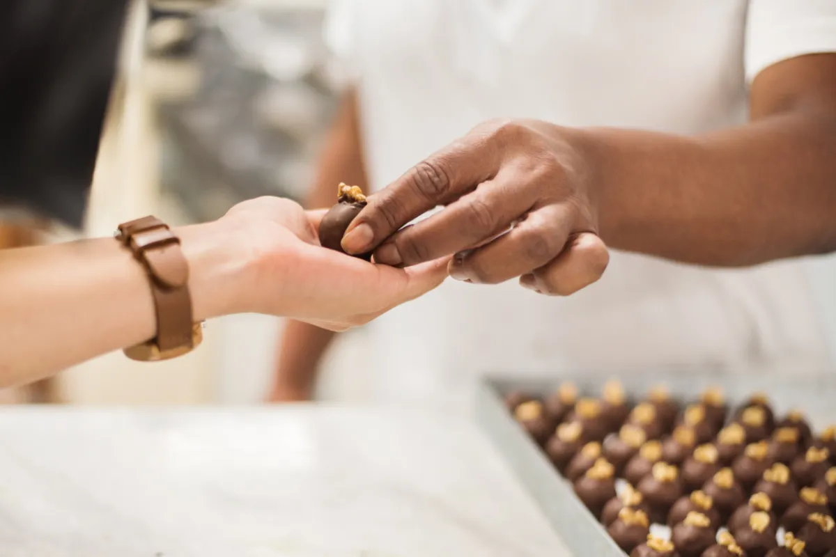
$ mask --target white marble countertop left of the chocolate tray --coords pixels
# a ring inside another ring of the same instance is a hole
[[[0,410],[3,557],[568,555],[476,425],[393,409]]]

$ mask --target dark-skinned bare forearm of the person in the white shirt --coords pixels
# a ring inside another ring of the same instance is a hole
[[[788,113],[695,138],[582,135],[609,246],[718,266],[836,250],[836,117]]]

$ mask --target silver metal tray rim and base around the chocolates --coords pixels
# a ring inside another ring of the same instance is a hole
[[[624,557],[594,515],[575,496],[572,485],[555,471],[545,453],[514,421],[505,408],[502,393],[522,390],[545,395],[561,382],[574,382],[582,395],[598,396],[611,375],[562,375],[552,380],[488,378],[477,397],[477,420],[511,466],[546,519],[576,557]],[[618,377],[628,397],[644,397],[650,387],[664,385],[670,396],[688,403],[707,387],[721,387],[732,406],[762,391],[777,415],[802,408],[813,430],[836,422],[836,374],[828,376],[776,376],[771,374],[724,375],[721,373],[656,373]]]

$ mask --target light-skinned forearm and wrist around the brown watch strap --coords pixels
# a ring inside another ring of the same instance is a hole
[[[214,224],[176,232],[195,319],[236,311],[244,264],[228,235]],[[0,251],[0,385],[31,382],[154,336],[148,277],[114,239]]]

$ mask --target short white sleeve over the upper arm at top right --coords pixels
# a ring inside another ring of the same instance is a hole
[[[803,54],[836,53],[836,0],[749,0],[746,78]]]

